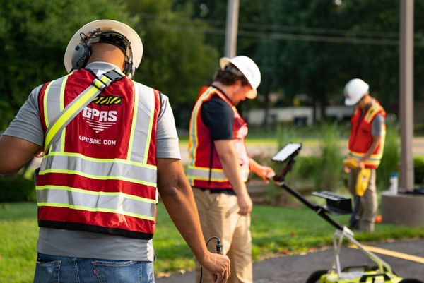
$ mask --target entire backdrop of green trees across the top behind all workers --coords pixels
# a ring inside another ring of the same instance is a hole
[[[251,56],[262,72],[258,100],[242,107],[295,100],[324,110],[340,104],[343,85],[360,77],[397,112],[399,1],[335,2],[240,0],[237,54]],[[215,0],[0,1],[0,131],[30,90],[64,75],[69,38],[98,18],[121,20],[139,32],[144,55],[135,78],[167,94],[178,126],[187,128],[199,87],[223,55],[226,8],[227,1]],[[416,1],[415,10],[415,97],[423,100],[424,1]]]

